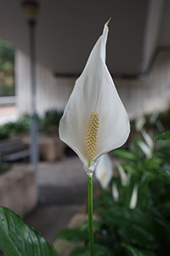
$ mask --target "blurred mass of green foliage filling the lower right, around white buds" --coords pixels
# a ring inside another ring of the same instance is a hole
[[[143,139],[138,134],[126,149],[113,152],[122,162],[127,184],[122,183],[115,167],[110,187],[99,187],[100,194],[94,200],[94,210],[99,216],[99,220],[94,222],[94,242],[109,249],[101,255],[107,256],[110,252],[116,256],[154,256],[159,251],[164,255],[167,255],[165,252],[170,253],[170,147],[163,141],[154,143],[152,140],[152,145],[148,137]],[[140,147],[140,142],[149,148],[150,154]],[[118,200],[112,194],[113,184],[116,184]],[[135,184],[139,184],[138,201],[131,208]],[[88,224],[83,224],[76,233],[87,234],[85,231],[88,232]],[[72,232],[70,237],[69,232]],[[67,229],[59,231],[57,236],[74,241],[76,233]],[[79,241],[83,241],[85,246],[86,236],[79,236]],[[76,254],[71,255],[89,255],[83,250],[77,248]]]

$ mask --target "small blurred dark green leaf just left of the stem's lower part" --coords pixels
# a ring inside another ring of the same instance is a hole
[[[59,230],[54,235],[55,238],[63,238],[69,241],[87,241],[88,240],[88,231],[79,230],[79,229],[65,229]]]

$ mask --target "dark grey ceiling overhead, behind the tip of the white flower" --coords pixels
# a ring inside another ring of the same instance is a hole
[[[169,0],[39,0],[37,61],[58,75],[78,75],[111,17],[107,66],[113,76],[137,76],[160,47],[170,46]],[[20,1],[0,1],[0,38],[29,54]]]

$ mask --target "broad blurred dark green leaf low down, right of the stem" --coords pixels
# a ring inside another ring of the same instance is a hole
[[[122,241],[148,249],[156,249],[160,246],[154,236],[155,224],[150,214],[139,209],[131,210],[118,206],[106,209],[103,214],[106,224],[113,228],[118,227],[117,232]]]

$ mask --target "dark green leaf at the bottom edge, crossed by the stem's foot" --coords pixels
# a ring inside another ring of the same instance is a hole
[[[111,251],[104,246],[99,244],[94,244],[94,255],[95,256],[114,256]],[[71,256],[90,256],[90,248],[89,247],[77,247],[71,253]]]

